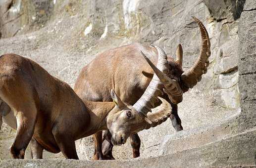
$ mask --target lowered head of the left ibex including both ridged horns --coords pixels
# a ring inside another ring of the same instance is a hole
[[[131,106],[122,102],[115,91],[111,90],[111,97],[115,102],[115,107],[108,113],[106,122],[107,128],[112,134],[111,141],[115,145],[125,143],[130,134],[161,124],[171,114],[170,104],[160,97],[157,98],[157,96],[163,94],[161,91],[163,88],[161,81],[166,80],[166,75],[164,76],[163,72],[168,68],[167,56],[161,48],[154,47],[158,51],[157,67],[142,52],[142,55],[144,55],[156,74],[153,76],[142,97]],[[151,109],[154,108],[154,104],[159,99],[162,101],[162,104],[158,110],[154,113],[149,113],[152,112]]]

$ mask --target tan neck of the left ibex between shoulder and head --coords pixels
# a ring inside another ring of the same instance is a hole
[[[91,122],[86,131],[86,136],[92,135],[100,130],[106,130],[106,118],[114,108],[113,102],[91,102],[83,101],[91,116]]]

